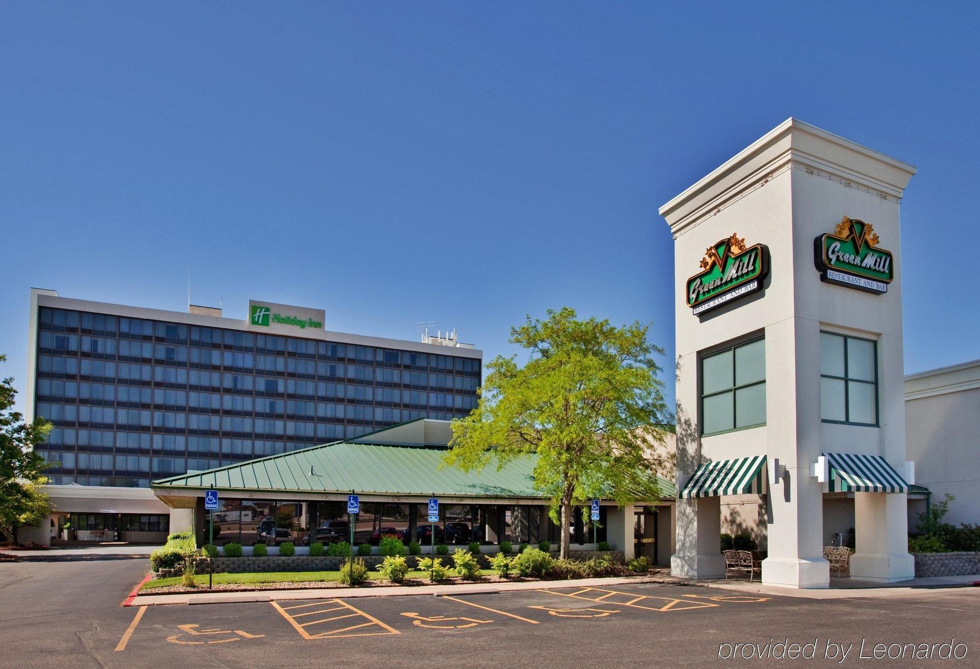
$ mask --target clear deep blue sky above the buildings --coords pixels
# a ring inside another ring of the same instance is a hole
[[[672,6],[671,6],[672,5]],[[524,314],[652,322],[657,208],[794,116],[916,165],[906,366],[980,358],[977,3],[5,3],[0,352],[30,286],[512,353]],[[939,243],[937,243],[939,242]],[[951,246],[952,245],[952,246]]]

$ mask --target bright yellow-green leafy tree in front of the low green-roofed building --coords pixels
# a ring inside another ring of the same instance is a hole
[[[656,447],[670,413],[654,360],[662,350],[648,330],[639,322],[580,320],[567,307],[549,310],[543,321],[528,316],[510,340],[528,351],[526,364],[494,358],[478,406],[453,421],[450,465],[500,468],[538,456],[534,484],[551,497],[550,515],[561,522],[563,558],[573,506],[598,497],[622,505],[658,497],[655,474],[668,455]]]

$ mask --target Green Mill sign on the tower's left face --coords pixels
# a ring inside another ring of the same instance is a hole
[[[769,271],[769,251],[762,244],[747,247],[733,234],[708,247],[701,268],[685,286],[687,306],[695,315],[761,290]]]

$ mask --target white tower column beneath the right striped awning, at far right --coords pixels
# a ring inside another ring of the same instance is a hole
[[[895,583],[915,578],[915,560],[908,554],[907,495],[855,493],[855,554],[851,578]]]

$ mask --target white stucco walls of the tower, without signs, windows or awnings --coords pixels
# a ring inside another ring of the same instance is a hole
[[[811,476],[822,453],[882,455],[898,471],[906,457],[899,203],[914,167],[797,119],[788,119],[664,205],[674,237],[676,291],[678,489],[705,461],[765,454],[785,476],[766,495],[766,583],[821,588],[824,484]],[[814,238],[843,216],[873,223],[895,258],[887,292],[875,295],[824,283],[814,266]],[[768,276],[760,292],[695,315],[685,285],[706,248],[737,233],[764,244]],[[877,426],[834,424],[820,415],[820,333],[877,344]],[[764,337],[765,422],[702,436],[701,359]],[[906,496],[856,494],[858,550],[852,576],[877,581],[912,577],[906,550]],[[719,553],[720,498],[680,500],[674,574],[724,571]]]

